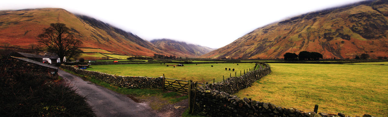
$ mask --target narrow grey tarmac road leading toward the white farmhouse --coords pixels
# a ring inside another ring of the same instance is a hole
[[[125,95],[102,86],[84,81],[81,77],[58,69],[59,76],[69,81],[78,90],[78,94],[87,96],[99,117],[156,117],[157,115],[145,103],[137,103]]]

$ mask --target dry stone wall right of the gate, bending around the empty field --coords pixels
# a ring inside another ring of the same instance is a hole
[[[194,87],[191,92],[192,113],[211,117],[347,117],[338,113],[302,112],[296,108],[277,107],[251,98],[238,98],[233,93],[248,88],[252,83],[271,72],[269,64],[260,63],[263,69],[251,71],[241,77]],[[364,117],[371,117],[365,114]]]

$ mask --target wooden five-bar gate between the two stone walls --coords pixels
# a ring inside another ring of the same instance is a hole
[[[188,94],[189,81],[163,77],[163,89]]]

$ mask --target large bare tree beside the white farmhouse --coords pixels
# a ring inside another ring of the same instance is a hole
[[[78,46],[82,42],[74,38],[65,24],[51,23],[50,26],[38,35],[37,40],[44,46],[43,50],[56,53],[61,59],[61,63],[64,62],[63,57],[69,60],[81,54],[82,51],[78,49]]]

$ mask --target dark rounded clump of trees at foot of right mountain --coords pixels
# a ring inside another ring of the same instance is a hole
[[[319,58],[323,58],[323,55],[318,52],[307,52],[302,51],[299,52],[298,55],[296,53],[286,53],[283,55],[284,60],[319,60]]]

